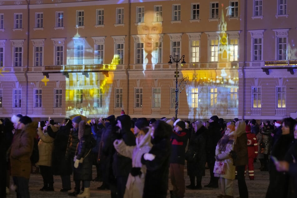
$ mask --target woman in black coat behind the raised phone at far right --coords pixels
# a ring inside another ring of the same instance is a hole
[[[294,126],[296,121],[291,118],[285,118],[282,123],[282,135],[275,142],[271,156],[274,156],[278,161],[285,159],[285,154],[290,149],[294,140]],[[279,172],[276,170],[272,160],[269,162],[269,186],[266,192],[266,198],[269,197],[287,197],[290,175],[287,172]],[[295,186],[296,188],[296,186]]]

